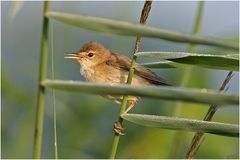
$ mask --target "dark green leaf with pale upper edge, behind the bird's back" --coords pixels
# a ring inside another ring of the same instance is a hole
[[[199,67],[234,70],[239,71],[239,54],[197,54],[185,52],[139,52],[138,56],[159,58],[172,61],[169,65],[177,66],[176,63],[190,64]],[[173,63],[176,62],[176,63]],[[147,67],[160,68],[163,66],[162,62],[145,63]]]

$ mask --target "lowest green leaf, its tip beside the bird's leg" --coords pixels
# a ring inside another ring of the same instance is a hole
[[[204,133],[206,132],[232,137],[239,136],[238,125],[228,123],[143,114],[123,114],[121,117],[127,121],[147,127],[157,127],[171,130],[186,130]]]

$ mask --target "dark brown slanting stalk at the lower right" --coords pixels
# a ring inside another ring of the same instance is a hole
[[[219,91],[223,91],[225,89],[225,87],[229,83],[232,76],[233,76],[233,71],[230,71],[227,74],[225,80],[223,81],[223,84],[220,87]],[[204,121],[211,121],[212,118],[213,118],[213,115],[216,113],[217,109],[218,109],[217,105],[211,105],[203,120]],[[190,144],[190,147],[189,147],[189,149],[188,149],[188,151],[185,155],[185,158],[192,159],[196,155],[196,153],[197,153],[200,145],[204,141],[204,139],[205,139],[204,133],[200,133],[200,132],[195,133],[193,138],[192,138],[192,142]]]

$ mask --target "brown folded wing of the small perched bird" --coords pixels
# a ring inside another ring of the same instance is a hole
[[[124,56],[118,53],[112,53],[112,57],[106,61],[106,64],[117,67],[119,69],[124,69],[126,71],[129,71],[131,61],[127,56]],[[165,80],[158,77],[154,72],[152,72],[150,69],[147,69],[145,67],[136,67],[135,74],[138,75],[139,77],[142,77],[148,80],[154,85],[170,86],[170,84],[168,84]]]

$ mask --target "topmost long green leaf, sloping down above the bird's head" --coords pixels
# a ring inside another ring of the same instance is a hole
[[[160,38],[176,42],[188,42],[205,44],[224,48],[239,49],[238,43],[229,43],[226,40],[218,40],[196,35],[185,35],[175,31],[163,30],[154,27],[147,27],[141,24],[134,24],[126,21],[111,20],[106,18],[83,16],[61,12],[48,12],[46,16],[59,22],[76,27],[103,33],[111,33],[126,36],[140,36]]]

